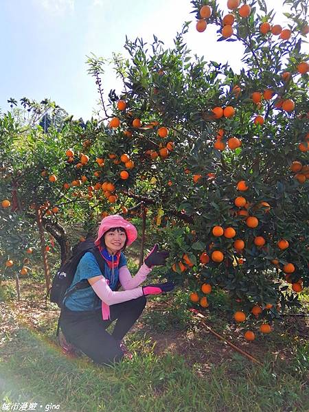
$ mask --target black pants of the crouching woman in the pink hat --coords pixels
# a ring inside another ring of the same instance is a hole
[[[84,352],[95,363],[111,364],[119,361],[123,352],[119,341],[137,321],[146,305],[146,297],[122,302],[110,306],[111,319],[104,321],[102,311],[76,312],[63,308],[60,316],[60,328],[67,341]],[[117,319],[113,334],[106,328]]]

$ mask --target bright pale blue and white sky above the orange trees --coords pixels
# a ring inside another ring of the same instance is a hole
[[[282,23],[282,1],[267,1]],[[226,0],[218,3],[227,10]],[[194,20],[191,11],[190,0],[1,0],[0,108],[7,108],[10,97],[49,98],[74,118],[88,119],[98,95],[86,56],[124,54],[126,34],[146,41],[156,34],[172,45],[183,22]],[[229,60],[233,69],[240,68],[241,45],[216,43],[214,26],[199,34],[192,23],[186,41],[207,60]],[[106,91],[117,89],[111,67],[103,80]]]

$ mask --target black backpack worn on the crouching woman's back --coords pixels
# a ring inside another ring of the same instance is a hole
[[[75,292],[78,289],[89,288],[90,284],[87,279],[78,282],[69,292],[67,289],[71,286],[73,282],[73,277],[76,273],[76,268],[81,258],[85,253],[91,252],[95,256],[95,259],[100,266],[100,270],[104,273],[104,260],[100,254],[100,251],[95,247],[93,238],[84,240],[80,242],[73,248],[71,258],[66,260],[58,269],[54,279],[52,281],[52,287],[49,289],[49,299],[51,302],[58,305],[59,308],[62,308],[63,301],[65,298],[69,297],[71,293]]]

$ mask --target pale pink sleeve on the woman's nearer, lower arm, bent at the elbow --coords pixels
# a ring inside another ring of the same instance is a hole
[[[104,277],[102,277],[102,279],[99,279],[98,282],[95,282],[95,284],[93,284],[91,287],[98,295],[98,297],[100,297],[100,299],[108,306],[120,304],[121,302],[125,302],[131,299],[137,299],[137,297],[143,296],[142,288],[114,292],[108,286],[106,279]]]

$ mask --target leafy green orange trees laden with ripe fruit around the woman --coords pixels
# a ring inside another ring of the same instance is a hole
[[[1,117],[1,230],[10,233],[1,267],[27,275],[38,211],[62,258],[69,227],[86,236],[102,216],[144,211],[170,249],[162,274],[190,288],[192,306],[208,308],[209,294],[224,289],[231,319],[258,320],[268,334],[309,284],[308,0],[284,2],[284,27],[263,0],[228,0],[222,10],[214,0],[191,3],[201,41],[215,25],[231,53],[242,43],[239,73],[191,56],[185,23],[172,49],[156,36],[151,47],[126,40],[129,58],[113,56],[123,90],[107,103],[105,60],[88,58],[98,119],[67,117],[44,130],[32,119],[56,113],[46,101],[23,104],[27,121]]]

